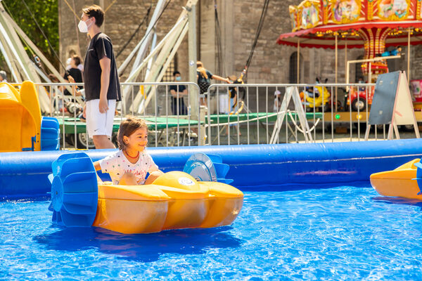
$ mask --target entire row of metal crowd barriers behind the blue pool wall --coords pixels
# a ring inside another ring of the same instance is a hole
[[[83,93],[77,96],[76,86],[83,84],[36,84],[37,90],[44,87],[50,95],[50,115],[59,119],[62,148],[94,148],[80,119],[84,101]],[[186,91],[181,91],[182,86]],[[173,97],[174,87],[182,94]],[[122,83],[124,96],[117,107],[112,141],[116,142],[119,124],[128,116],[146,119],[150,146],[363,141],[374,87],[212,84],[206,95],[194,96],[200,91],[191,82]],[[63,94],[64,88],[69,95]],[[290,102],[283,108],[289,89],[298,91],[292,90]],[[206,107],[197,100],[191,107],[192,97],[199,97]],[[295,105],[295,97],[302,110]],[[305,117],[306,126],[300,117]],[[371,131],[371,140],[386,139],[385,125]]]

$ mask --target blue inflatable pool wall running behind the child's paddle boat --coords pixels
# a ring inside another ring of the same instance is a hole
[[[88,150],[93,161],[115,150]],[[248,188],[286,188],[288,185],[369,181],[378,171],[422,157],[422,140],[367,141],[279,145],[224,145],[148,148],[162,171],[182,171],[196,152],[220,155],[229,164],[226,178]],[[0,197],[46,195],[51,163],[68,151],[0,153]],[[103,176],[102,176],[103,177]]]

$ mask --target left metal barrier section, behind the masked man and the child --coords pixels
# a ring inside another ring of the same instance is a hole
[[[61,148],[94,148],[87,136],[82,116],[84,92],[82,83],[39,83],[35,84],[49,93],[50,116],[60,123]],[[15,84],[14,86],[19,86]],[[198,122],[199,104],[192,110],[192,94],[199,93],[199,87],[191,82],[170,83],[122,83],[122,102],[116,107],[112,141],[117,146],[117,130],[127,117],[145,119],[148,124],[150,146],[200,145],[201,135],[205,135]],[[181,89],[185,90],[182,91]],[[65,94],[65,89],[68,94]],[[171,91],[176,89],[177,91]],[[123,93],[127,96],[124,96]],[[150,96],[151,94],[151,96]],[[174,96],[172,96],[174,95]],[[149,96],[149,97],[148,97]],[[148,103],[146,100],[148,99]],[[139,107],[134,102],[139,101]],[[182,101],[183,100],[183,101]],[[202,124],[203,125],[203,124]],[[203,141],[202,141],[203,143]]]

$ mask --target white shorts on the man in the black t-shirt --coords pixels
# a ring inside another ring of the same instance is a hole
[[[87,131],[92,136],[109,136],[113,133],[113,120],[116,109],[116,100],[108,100],[108,110],[101,113],[100,99],[87,101]]]

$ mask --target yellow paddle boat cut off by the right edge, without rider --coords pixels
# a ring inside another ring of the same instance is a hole
[[[380,195],[422,200],[418,186],[420,159],[413,159],[392,171],[371,174],[371,185]]]

